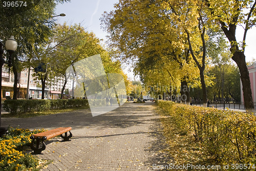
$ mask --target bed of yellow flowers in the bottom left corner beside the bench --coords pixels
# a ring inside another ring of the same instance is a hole
[[[8,130],[3,138],[0,138],[0,168],[1,170],[31,170],[39,165],[37,157],[25,154],[30,144],[30,136],[45,130]]]

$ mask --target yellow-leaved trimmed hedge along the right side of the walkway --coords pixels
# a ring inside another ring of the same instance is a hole
[[[255,116],[172,101],[159,100],[158,105],[182,131],[193,134],[216,162],[256,164]]]

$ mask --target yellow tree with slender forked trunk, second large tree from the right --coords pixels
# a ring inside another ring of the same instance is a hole
[[[176,26],[184,30],[191,56],[200,71],[204,106],[207,106],[207,91],[205,83],[205,60],[207,29],[211,26],[207,11],[202,1],[168,1],[163,6],[169,11],[168,16],[178,23]]]

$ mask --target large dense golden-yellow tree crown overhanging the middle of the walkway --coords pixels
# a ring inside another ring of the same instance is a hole
[[[185,76],[195,73],[195,65],[186,61],[184,32],[180,32],[173,18],[166,15],[162,1],[123,0],[115,7],[115,11],[102,17],[102,24],[110,34],[110,47],[121,54],[118,55],[120,60],[133,63],[144,83],[160,85],[155,81],[159,80],[161,85],[171,82],[176,87],[175,79],[179,80],[178,84],[181,79],[193,79]],[[182,71],[183,68],[186,70]]]

